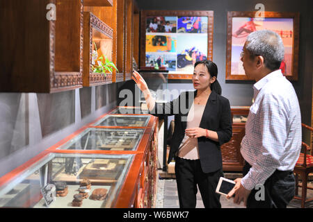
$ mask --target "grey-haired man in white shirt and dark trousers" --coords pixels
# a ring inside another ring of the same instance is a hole
[[[283,58],[281,37],[268,30],[250,33],[241,53],[246,75],[257,83],[241,142],[243,178],[227,198],[235,194],[234,203],[248,208],[284,208],[294,196],[301,117],[294,87],[279,69]]]

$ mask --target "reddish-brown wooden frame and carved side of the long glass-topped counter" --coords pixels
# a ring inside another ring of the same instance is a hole
[[[84,126],[77,132],[63,139],[58,144],[51,146],[47,152],[51,153],[93,153],[93,154],[136,154],[136,159],[131,165],[131,169],[127,174],[127,182],[123,185],[121,192],[118,196],[117,202],[114,203],[115,207],[154,207],[157,195],[157,147],[158,147],[158,118],[150,114],[122,114],[123,117],[134,116],[149,116],[150,119],[146,126],[99,126],[97,123],[102,122],[102,119],[109,116],[121,116],[121,114],[103,114],[92,123]],[[96,126],[97,125],[97,126]],[[75,137],[79,137],[88,128],[101,128],[101,129],[141,129],[143,135],[135,150],[129,151],[113,151],[113,150],[70,150],[62,149],[67,147],[67,142],[74,142]]]

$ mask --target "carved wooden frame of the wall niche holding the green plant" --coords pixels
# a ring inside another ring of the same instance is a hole
[[[112,83],[112,74],[95,74],[92,71],[93,28],[113,40],[112,28],[93,15],[92,12],[83,12],[83,86],[86,87]],[[111,53],[113,58],[113,51]]]

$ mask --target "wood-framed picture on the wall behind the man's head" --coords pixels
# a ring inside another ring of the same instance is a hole
[[[282,74],[289,80],[298,80],[299,13],[227,12],[226,80],[250,80],[243,70],[240,53],[250,33],[268,29],[278,33],[284,44]]]

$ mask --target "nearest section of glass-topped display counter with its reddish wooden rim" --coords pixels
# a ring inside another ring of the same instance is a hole
[[[56,196],[49,208],[69,208],[79,194],[81,180],[90,180],[89,196],[95,189],[106,189],[103,200],[85,198],[81,208],[132,207],[142,155],[43,153],[0,178],[0,207],[47,208],[42,188],[65,182],[65,195]],[[91,166],[91,167],[90,167]],[[112,169],[113,168],[113,169]],[[81,176],[84,174],[85,176]]]

